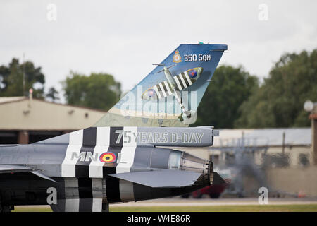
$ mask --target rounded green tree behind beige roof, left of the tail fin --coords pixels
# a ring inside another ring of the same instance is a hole
[[[113,107],[121,93],[120,83],[106,73],[85,76],[71,71],[62,85],[68,104],[104,110]]]

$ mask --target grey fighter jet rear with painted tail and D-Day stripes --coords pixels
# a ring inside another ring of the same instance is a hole
[[[29,145],[1,145],[0,211],[50,205],[56,212],[101,212],[109,203],[223,183],[211,161],[176,149],[211,146],[218,136],[213,126],[189,128],[180,117],[195,114],[226,49],[181,44],[94,126]],[[186,109],[185,91],[194,100]]]

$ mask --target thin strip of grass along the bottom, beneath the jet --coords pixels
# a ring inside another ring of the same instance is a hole
[[[316,204],[240,206],[111,206],[111,212],[317,212]],[[14,212],[51,212],[43,206],[16,206]]]

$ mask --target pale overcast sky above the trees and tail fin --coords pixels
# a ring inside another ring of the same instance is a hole
[[[70,71],[132,89],[179,44],[228,44],[221,64],[265,78],[285,52],[317,47],[317,1],[0,1],[0,65],[41,66],[46,90]],[[60,93],[64,102],[63,93]]]

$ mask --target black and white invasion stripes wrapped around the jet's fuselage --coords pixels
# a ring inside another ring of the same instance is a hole
[[[108,175],[130,172],[137,148],[135,134],[137,127],[122,126],[92,127],[70,133],[61,165],[64,210],[101,211],[105,202],[134,200],[132,182]],[[99,157],[106,152],[114,153],[116,161],[102,162]]]

